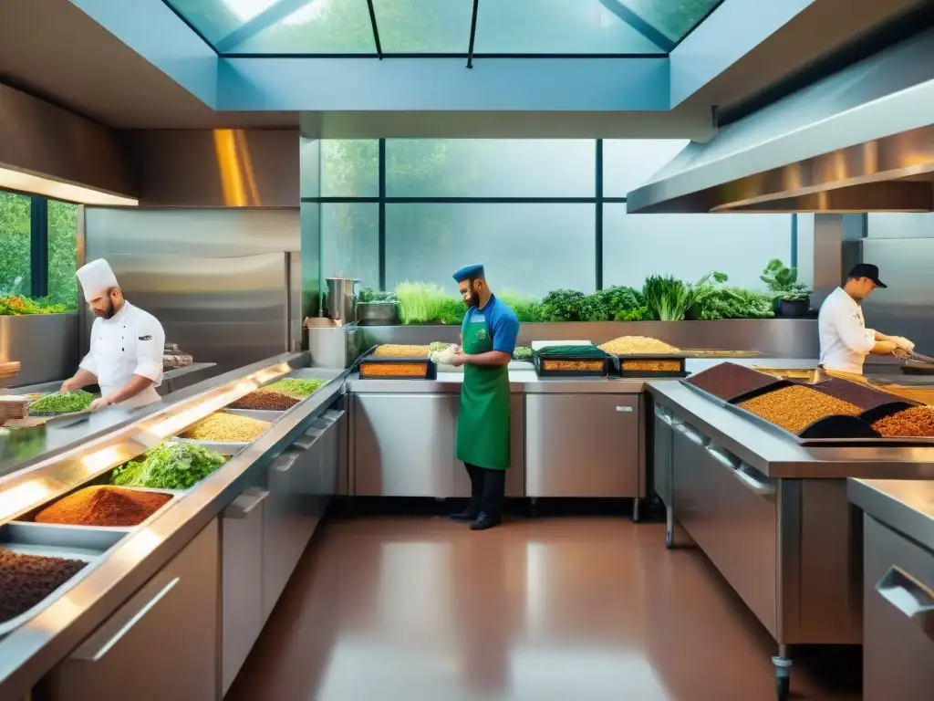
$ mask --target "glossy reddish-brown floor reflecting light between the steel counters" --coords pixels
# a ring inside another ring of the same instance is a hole
[[[658,523],[334,520],[227,699],[771,701],[773,652]],[[796,659],[792,699],[858,700],[858,665],[831,662]]]

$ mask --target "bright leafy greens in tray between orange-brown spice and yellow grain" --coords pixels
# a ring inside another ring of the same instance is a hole
[[[224,464],[224,457],[190,443],[163,443],[114,470],[111,484],[152,489],[188,489]]]

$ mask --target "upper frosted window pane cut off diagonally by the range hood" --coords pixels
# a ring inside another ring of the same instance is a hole
[[[689,141],[671,139],[606,139],[603,141],[603,196],[625,197],[658,173]]]

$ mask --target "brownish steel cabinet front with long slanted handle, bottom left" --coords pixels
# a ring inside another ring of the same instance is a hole
[[[51,673],[52,701],[215,699],[218,522],[211,522]]]

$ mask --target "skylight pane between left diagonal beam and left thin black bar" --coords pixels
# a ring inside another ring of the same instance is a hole
[[[258,54],[376,52],[366,0],[311,0],[292,5],[302,7],[242,41],[231,42],[230,46],[222,42],[218,50]]]

